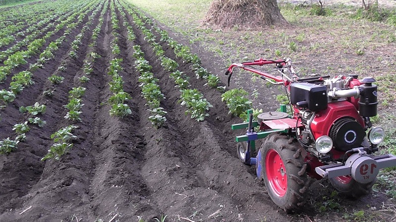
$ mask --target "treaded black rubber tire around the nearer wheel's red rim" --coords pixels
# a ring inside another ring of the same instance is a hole
[[[278,196],[272,189],[267,178],[265,157],[271,149],[278,152],[286,169],[287,188],[286,193],[282,197]],[[303,157],[301,156],[302,149],[294,138],[289,138],[279,133],[270,134],[260,148],[261,176],[267,187],[268,194],[272,201],[287,213],[300,211],[306,199],[306,191],[310,185],[310,180],[306,175],[306,166],[304,166]]]

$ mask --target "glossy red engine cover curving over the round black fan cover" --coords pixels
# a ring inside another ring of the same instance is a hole
[[[328,136],[332,124],[341,117],[350,116],[364,127],[363,118],[359,115],[355,106],[347,101],[329,103],[328,108],[316,113],[310,128],[312,130],[314,139],[321,136]]]

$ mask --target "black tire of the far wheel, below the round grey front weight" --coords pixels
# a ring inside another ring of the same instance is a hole
[[[330,178],[330,184],[340,193],[348,198],[359,199],[362,196],[369,194],[373,190],[373,185],[376,180],[368,184],[359,184],[351,178],[350,182],[342,183],[338,178]]]

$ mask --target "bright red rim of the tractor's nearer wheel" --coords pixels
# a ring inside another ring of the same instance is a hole
[[[271,189],[279,197],[286,194],[288,177],[285,164],[275,149],[270,149],[265,157],[265,172]]]

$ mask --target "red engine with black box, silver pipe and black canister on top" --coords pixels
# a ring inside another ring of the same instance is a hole
[[[377,86],[373,82],[373,78],[360,81],[357,76],[341,75],[290,84],[294,117],[304,125],[297,132],[298,138],[307,148],[306,161],[312,169],[324,161],[340,161],[348,150],[362,147],[371,126],[369,117],[377,114]],[[318,142],[319,138],[322,141]],[[317,143],[330,141],[326,139],[331,139],[333,148],[317,149]]]

